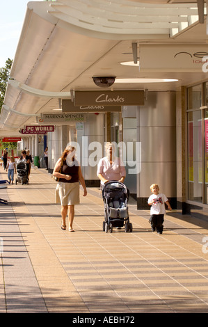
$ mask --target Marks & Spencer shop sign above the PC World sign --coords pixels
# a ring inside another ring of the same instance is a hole
[[[41,122],[86,122],[85,113],[45,113],[42,115]]]

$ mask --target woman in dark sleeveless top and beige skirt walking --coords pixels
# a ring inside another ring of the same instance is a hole
[[[81,173],[79,162],[75,159],[75,148],[67,145],[61,158],[54,167],[53,176],[58,178],[55,202],[61,203],[61,229],[66,230],[66,216],[68,212],[69,231],[74,232],[74,205],[79,205],[79,182],[83,187],[83,196],[87,195],[85,180]]]

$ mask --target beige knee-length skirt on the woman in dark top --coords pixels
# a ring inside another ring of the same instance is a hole
[[[79,182],[58,182],[55,203],[61,203],[61,205],[79,205]]]

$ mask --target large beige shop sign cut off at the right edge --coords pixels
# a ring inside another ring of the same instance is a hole
[[[202,72],[208,45],[140,45],[141,72]]]

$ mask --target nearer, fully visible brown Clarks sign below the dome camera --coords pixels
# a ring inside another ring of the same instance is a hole
[[[75,91],[75,106],[143,106],[143,104],[143,90]]]

